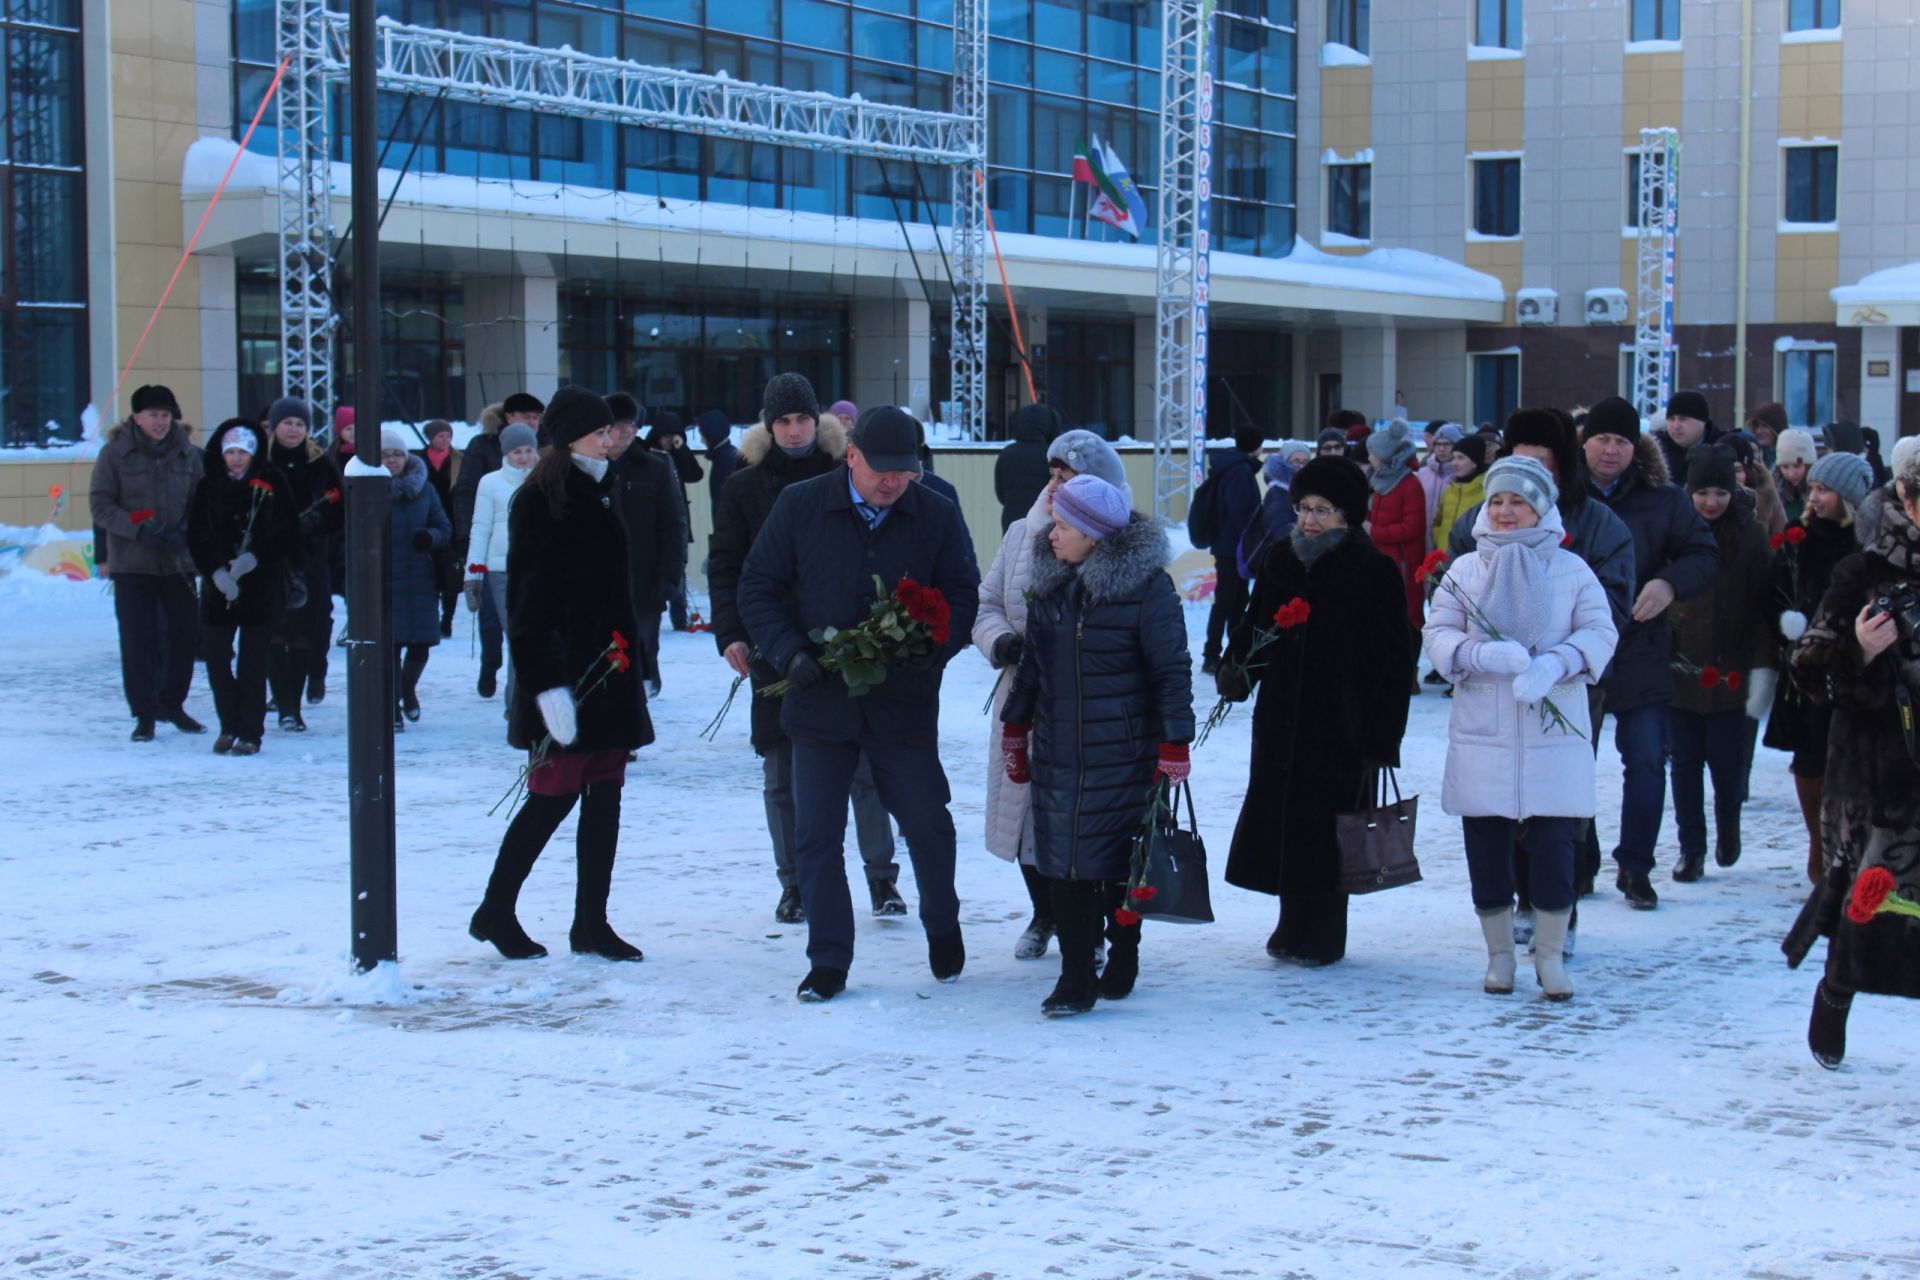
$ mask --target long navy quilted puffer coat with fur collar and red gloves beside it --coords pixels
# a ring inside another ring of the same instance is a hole
[[[1079,566],[1033,541],[1027,643],[1000,708],[1031,723],[1033,865],[1062,881],[1127,877],[1162,743],[1194,735],[1187,616],[1167,535],[1139,512]]]

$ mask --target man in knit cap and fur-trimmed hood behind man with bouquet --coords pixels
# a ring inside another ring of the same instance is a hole
[[[756,695],[751,700],[753,750],[760,756],[760,798],[766,806],[766,833],[774,841],[774,873],[780,877],[774,919],[783,925],[806,919],[801,873],[793,862],[793,741],[780,727],[780,699],[758,697],[760,689],[780,679],[780,672],[753,652],[739,620],[739,570],[781,489],[839,470],[845,453],[847,428],[837,416],[820,416],[812,384],[801,374],[776,374],[760,395],[760,426],[747,432],[739,449],[741,464],[720,495],[707,555],[714,645],[735,676],[751,677],[749,687]],[[900,865],[893,860],[893,823],[874,789],[874,766],[864,754],[852,775],[852,825],[874,915],[906,915],[906,900],[899,890]]]

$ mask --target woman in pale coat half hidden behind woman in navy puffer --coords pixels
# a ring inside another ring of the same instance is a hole
[[[1054,489],[1073,476],[1098,476],[1117,487],[1127,501],[1127,468],[1114,445],[1087,430],[1071,430],[1046,445],[1048,480],[1033,507],[1006,526],[993,568],[979,583],[979,616],[973,620],[973,647],[1000,672],[993,687],[993,714],[987,718],[987,848],[998,858],[1020,865],[1033,904],[1033,919],[1014,944],[1016,960],[1039,960],[1054,936],[1054,912],[1046,896],[1046,881],[1033,869],[1033,823],[1027,802],[1027,783],[1006,775],[1006,756],[1000,750],[1000,702],[1014,683],[1012,668],[1020,666],[1020,647],[1027,635],[1027,587],[1033,585],[1033,549],[1041,530],[1054,526]]]

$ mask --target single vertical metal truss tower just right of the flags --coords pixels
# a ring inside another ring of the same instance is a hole
[[[1213,0],[1160,6],[1160,190],[1154,288],[1154,514],[1192,491],[1206,464],[1208,203]],[[1175,447],[1185,441],[1183,464]]]

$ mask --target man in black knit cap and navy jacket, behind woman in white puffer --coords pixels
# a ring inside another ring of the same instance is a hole
[[[1624,399],[1609,395],[1588,411],[1584,447],[1590,495],[1634,535],[1640,591],[1601,691],[1626,770],[1615,883],[1630,906],[1649,912],[1661,902],[1647,877],[1667,808],[1667,702],[1674,687],[1665,614],[1676,599],[1713,585],[1720,549],[1686,489],[1668,482],[1661,445],[1640,432],[1640,413]]]

